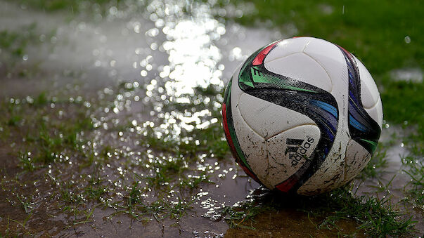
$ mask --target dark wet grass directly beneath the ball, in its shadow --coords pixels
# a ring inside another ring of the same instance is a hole
[[[287,204],[290,204],[288,206]],[[319,205],[318,205],[319,204]],[[255,229],[255,218],[260,213],[269,213],[283,209],[304,211],[307,216],[319,220],[317,229],[339,230],[340,220],[354,220],[358,224],[355,232],[364,231],[371,237],[399,236],[413,234],[414,221],[403,218],[403,214],[390,204],[390,200],[368,196],[355,196],[349,187],[341,187],[329,194],[315,197],[288,197],[267,194],[252,201],[245,201],[238,206],[226,206],[222,215],[230,227]],[[269,216],[272,216],[271,213]]]

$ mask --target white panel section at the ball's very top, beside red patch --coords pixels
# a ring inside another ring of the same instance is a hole
[[[300,53],[303,51],[304,46],[312,39],[311,37],[299,37],[292,39],[284,39],[283,41],[278,42],[278,45],[266,55],[264,63],[271,62],[273,60],[287,57],[288,55],[293,55],[295,53]]]

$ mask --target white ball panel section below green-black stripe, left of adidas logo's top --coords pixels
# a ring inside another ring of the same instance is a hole
[[[315,124],[309,117],[247,93],[240,95],[238,109],[243,120],[262,136],[270,138],[303,124]]]

